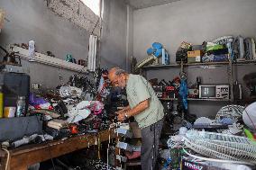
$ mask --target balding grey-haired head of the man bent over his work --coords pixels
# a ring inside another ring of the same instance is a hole
[[[127,73],[120,67],[113,67],[108,72],[108,78],[114,86],[124,88],[126,86]]]

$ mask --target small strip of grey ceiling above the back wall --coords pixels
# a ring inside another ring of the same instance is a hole
[[[126,0],[126,2],[132,5],[135,9],[147,8],[160,4],[173,3],[179,0]]]

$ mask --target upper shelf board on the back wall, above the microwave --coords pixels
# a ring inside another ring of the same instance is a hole
[[[244,60],[244,61],[236,61],[233,62],[233,65],[255,65],[256,60]],[[204,66],[227,66],[229,65],[229,61],[224,62],[207,62],[207,63],[184,63],[184,67],[204,67]],[[151,65],[142,67],[142,69],[167,69],[169,67],[180,67],[180,64],[170,64],[170,65]]]

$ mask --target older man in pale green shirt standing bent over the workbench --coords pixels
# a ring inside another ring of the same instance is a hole
[[[142,130],[142,170],[157,169],[160,132],[163,124],[163,106],[151,84],[143,77],[126,73],[119,67],[109,70],[111,83],[126,87],[129,106],[117,112],[118,121],[134,117]]]

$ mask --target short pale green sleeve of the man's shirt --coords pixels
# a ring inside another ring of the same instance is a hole
[[[136,105],[142,103],[143,101],[151,98],[151,94],[149,93],[148,86],[146,85],[148,82],[143,81],[142,77],[137,78],[136,83],[134,84],[134,95],[136,96]]]

